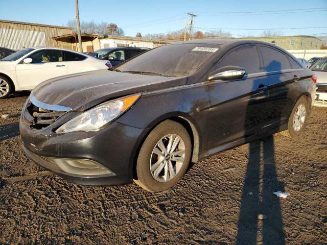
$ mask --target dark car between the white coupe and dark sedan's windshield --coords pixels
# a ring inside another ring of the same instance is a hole
[[[147,50],[147,48],[140,47],[110,47],[101,48],[100,50],[88,54],[93,57],[98,56],[97,58],[101,60],[109,60],[112,66],[115,66]]]

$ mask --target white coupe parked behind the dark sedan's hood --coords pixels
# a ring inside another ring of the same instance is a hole
[[[55,47],[25,48],[0,61],[0,99],[41,82],[77,72],[108,69],[110,62]]]

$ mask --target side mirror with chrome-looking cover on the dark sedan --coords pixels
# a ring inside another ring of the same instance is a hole
[[[241,79],[245,75],[245,69],[240,66],[227,65],[209,73],[208,80]]]

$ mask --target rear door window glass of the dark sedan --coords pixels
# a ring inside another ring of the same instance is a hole
[[[261,46],[260,50],[265,71],[269,72],[291,69],[291,64],[283,53],[266,46]]]

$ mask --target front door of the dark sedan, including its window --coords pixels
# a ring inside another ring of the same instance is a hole
[[[255,45],[242,45],[227,53],[215,68],[234,65],[245,68],[239,80],[208,82],[210,112],[208,148],[234,141],[265,129],[268,101],[267,78]]]

